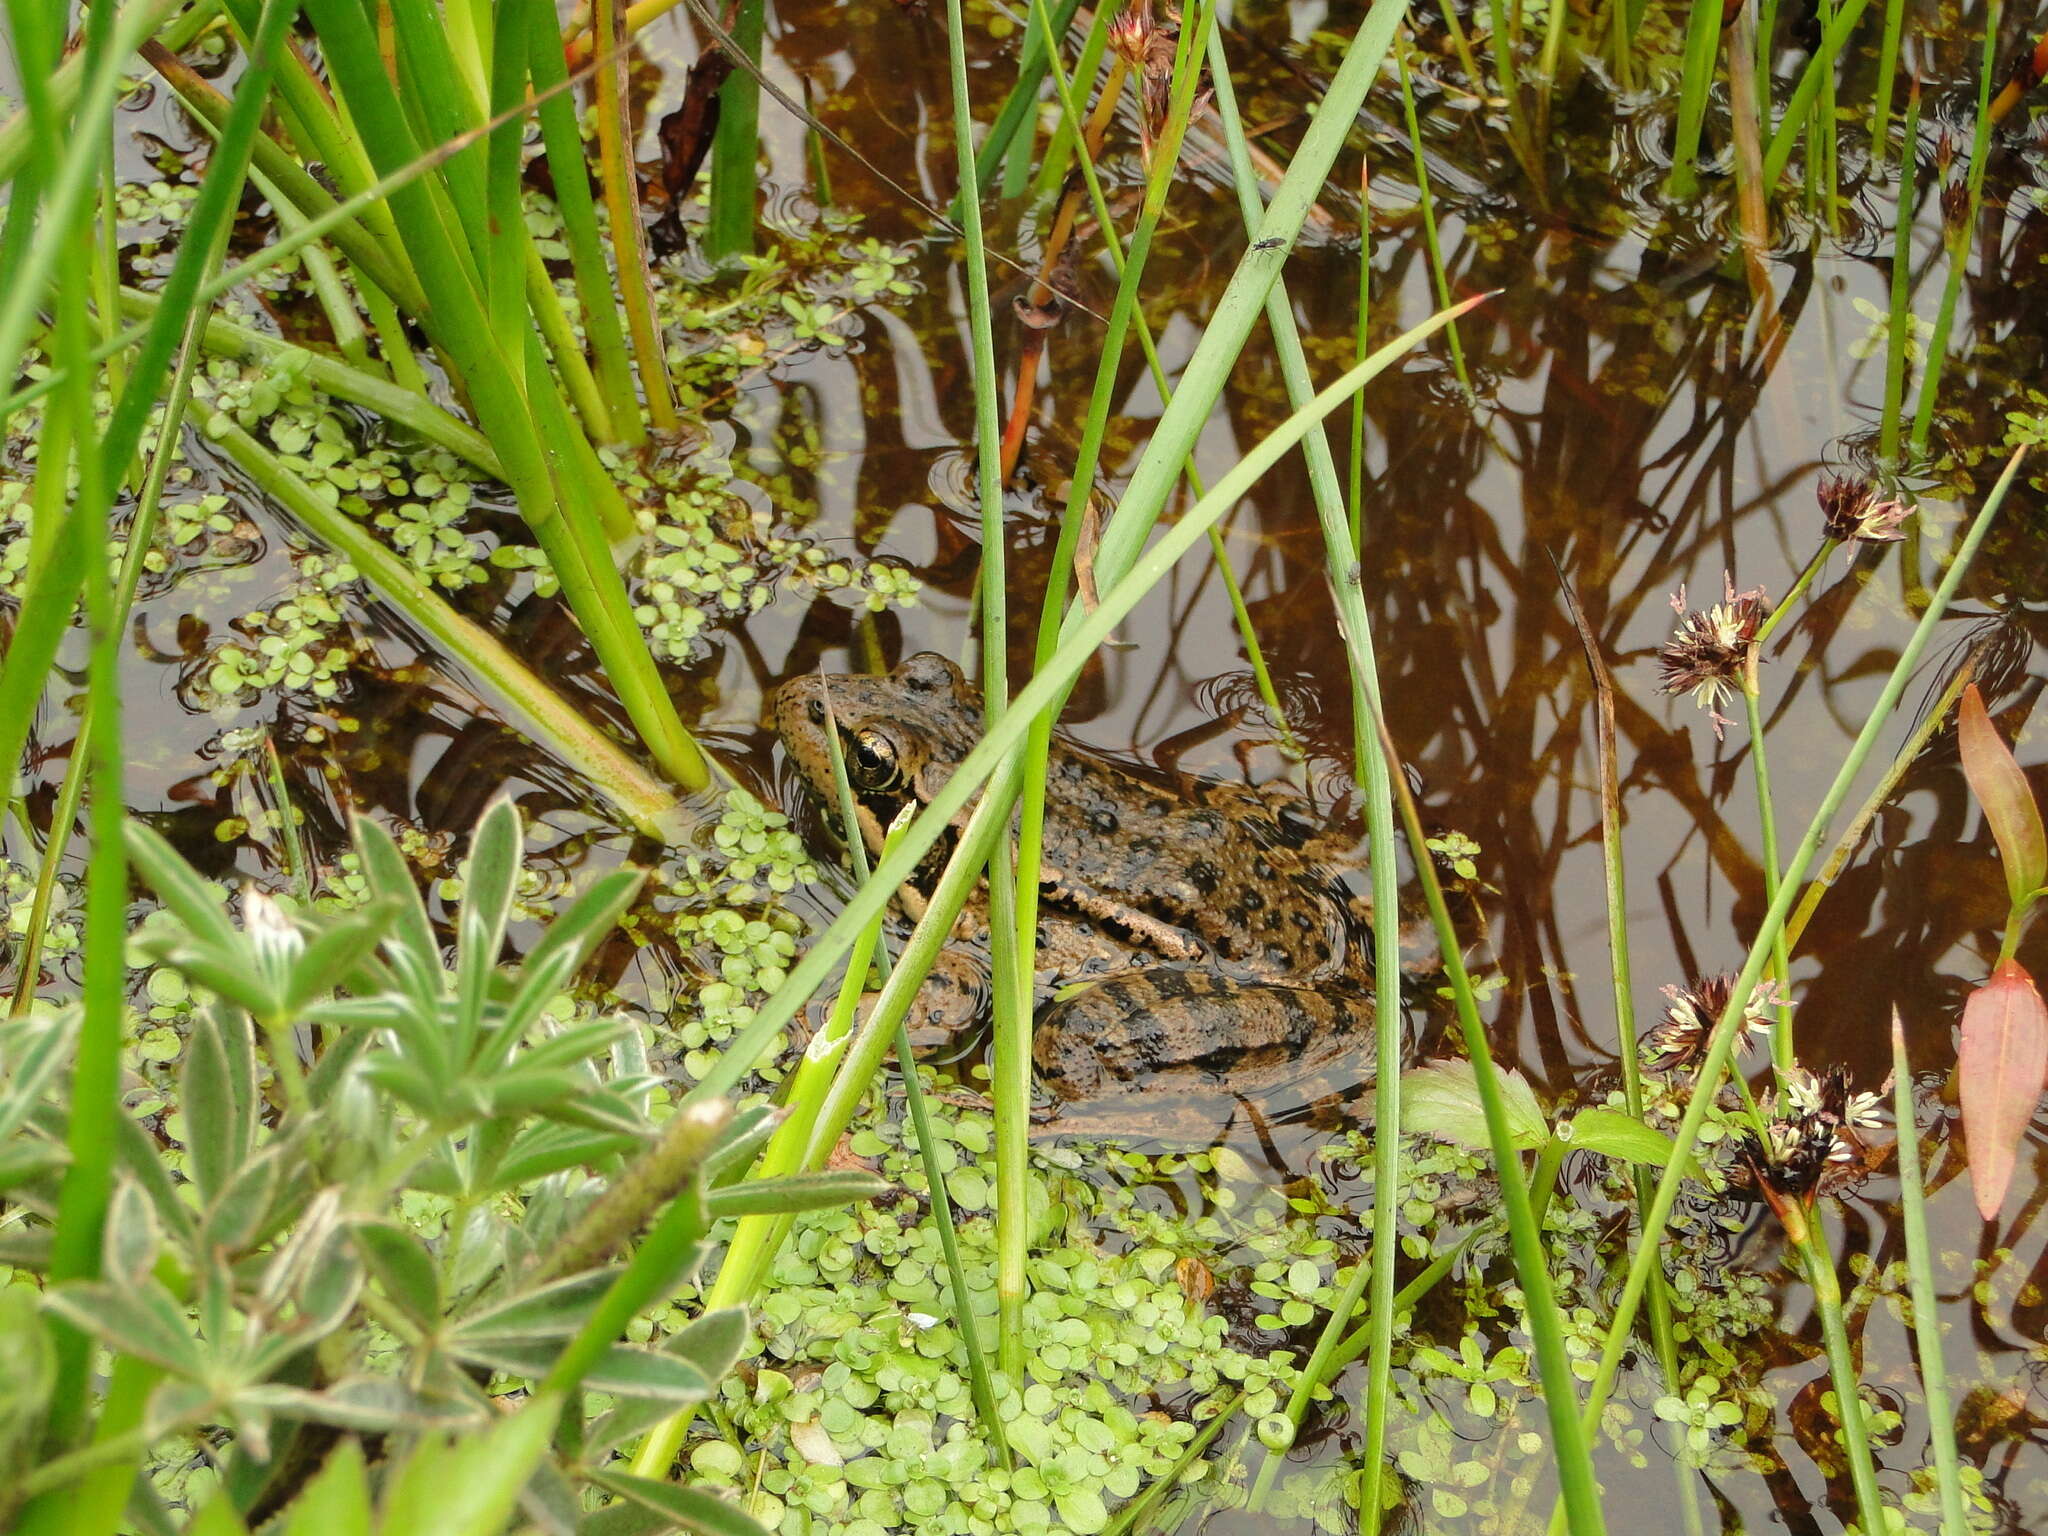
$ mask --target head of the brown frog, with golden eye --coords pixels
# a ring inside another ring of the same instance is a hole
[[[846,782],[868,850],[905,805],[926,805],[981,739],[981,694],[961,668],[932,651],[874,678],[856,672],[805,674],[774,692],[774,729],[803,780],[831,805],[831,745],[838,727]]]

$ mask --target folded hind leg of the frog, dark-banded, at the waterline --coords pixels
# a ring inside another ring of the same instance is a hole
[[[1038,1020],[1038,1079],[1063,1102],[1126,1094],[1264,1098],[1356,1053],[1356,995],[1159,967],[1104,981]],[[1370,1081],[1370,1057],[1360,1057]]]

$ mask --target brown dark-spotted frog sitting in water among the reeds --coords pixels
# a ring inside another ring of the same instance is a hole
[[[874,854],[897,813],[930,803],[981,739],[981,694],[926,651],[879,678],[793,678],[776,690],[774,721],[827,805],[825,733],[838,725]],[[942,840],[905,883],[907,915],[924,911],[948,852]],[[1372,1022],[1370,928],[1335,862],[1333,840],[1286,797],[1208,778],[1167,788],[1055,737],[1038,979],[1057,999],[1034,1028],[1038,1081],[1071,1104],[1133,1092],[1260,1098],[1348,1055],[1370,1073],[1370,1051],[1356,1053]],[[985,936],[977,893],[948,965],[920,993],[924,1024],[973,1018]]]

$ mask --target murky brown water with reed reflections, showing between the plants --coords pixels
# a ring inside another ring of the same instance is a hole
[[[1231,18],[1233,59],[1247,76],[1245,115],[1268,125],[1264,145],[1278,158],[1300,131],[1303,100],[1327,74],[1331,35],[1348,35],[1360,10],[1348,0],[1296,0],[1239,6]],[[2025,8],[2015,10],[2025,20]],[[1942,283],[1933,147],[1944,129],[1968,137],[1980,14],[1970,8],[1958,23],[1931,6],[1913,12],[1919,31],[1909,31],[1911,57],[1927,80],[1919,180],[1929,211],[1915,242],[1915,293],[1925,315]],[[1440,41],[1423,37],[1432,49]],[[680,66],[692,53],[688,29],[664,20],[645,49],[662,70],[651,82],[651,113],[662,113],[680,98]],[[1780,76],[1790,80],[1802,63],[1804,51],[1788,31]],[[991,47],[977,61],[977,100],[993,109],[1012,68],[1010,47]],[[770,70],[889,176],[932,201],[950,197],[946,55],[932,14],[893,0],[782,0]],[[1456,80],[1454,66],[1446,66],[1446,78]],[[1849,78],[1855,84],[1845,86],[1843,100],[1860,113],[1868,70],[1851,70]],[[1628,920],[1636,1006],[1649,1018],[1657,985],[1733,967],[1763,909],[1745,733],[1735,729],[1716,741],[1690,702],[1655,692],[1653,653],[1669,631],[1667,596],[1679,586],[1710,596],[1722,571],[1739,586],[1782,592],[1821,541],[1812,496],[1819,471],[1864,465],[1874,455],[1882,352],[1860,352],[1870,330],[1864,305],[1882,309],[1888,299],[1896,184],[1868,176],[1862,119],[1845,127],[1841,227],[1827,231],[1796,207],[1784,211],[1767,256],[1769,297],[1759,305],[1741,272],[1720,260],[1733,250],[1724,174],[1710,176],[1710,195],[1696,207],[1661,201],[1673,119],[1667,96],[1632,98],[1581,76],[1559,98],[1550,188],[1538,197],[1505,162],[1495,113],[1427,74],[1417,86],[1452,285],[1501,293],[1460,326],[1477,399],[1462,397],[1442,342],[1366,395],[1366,602],[1393,733],[1425,815],[1481,848],[1479,872],[1489,887],[1477,903],[1481,963],[1505,977],[1491,1004],[1495,1051],[1546,1098],[1569,1100],[1610,1079],[1616,1026],[1593,694],[1552,559],[1581,594],[1620,690]],[[768,213],[801,217],[811,197],[805,131],[770,102],[762,113]],[[172,143],[190,139],[160,106],[141,119]],[[1397,121],[1393,90],[1376,92],[1366,121],[1374,336],[1391,336],[1436,307],[1413,166]],[[2023,113],[2013,125],[1991,162],[1978,256],[1952,348],[1960,360],[1944,387],[1942,428],[1952,453],[1997,449],[2003,410],[2042,377],[2048,348],[2040,272],[2048,260],[2048,156]],[[1718,123],[1710,125],[1710,147],[1722,137]],[[1198,141],[1196,154],[1212,137]],[[1722,162],[1714,164],[1724,172]],[[1135,174],[1128,158],[1116,174]],[[1354,141],[1286,270],[1323,377],[1352,344],[1356,184]],[[864,233],[913,240],[930,229],[920,209],[842,158],[831,160],[831,195],[864,213]],[[1018,209],[995,209],[991,238],[1030,260],[1034,236],[1016,225]],[[1214,162],[1192,166],[1169,205],[1147,281],[1147,313],[1167,369],[1186,358],[1241,246],[1235,201]],[[887,659],[915,649],[965,657],[973,645],[969,598],[983,530],[971,494],[971,379],[956,262],[950,242],[928,242],[913,268],[922,285],[913,299],[895,313],[868,315],[860,340],[842,354],[795,354],[748,377],[731,426],[721,428],[735,434],[735,459],[752,457],[772,473],[784,424],[801,418],[821,449],[815,467],[803,471],[821,506],[813,532],[924,575],[922,606],[877,621]],[[999,272],[997,303],[1006,305],[1018,287],[1014,274]],[[1083,260],[1079,287],[1085,303],[1106,307],[1112,281],[1100,250]],[[1765,313],[1782,324],[1782,346],[1769,344]],[[1014,326],[999,330],[1014,352]],[[1051,340],[1034,442],[1034,455],[1051,465],[1071,457],[1098,338],[1094,319],[1069,313]],[[1972,344],[1985,350],[1972,354]],[[1120,395],[1128,426],[1108,455],[1112,479],[1135,461],[1145,422],[1157,412],[1135,358],[1133,348]],[[1221,473],[1284,414],[1278,371],[1255,342],[1204,432],[1204,473]],[[1958,477],[1944,471],[1944,481]],[[1989,471],[1976,471],[1976,489],[1989,479]],[[1923,547],[1907,547],[1907,559],[1931,584],[1962,502],[1935,494],[1925,506],[1929,535]],[[1020,590],[1014,612],[1036,606],[1051,516],[1044,500],[1024,492],[1006,508]],[[274,524],[260,532],[274,539]],[[1348,774],[1348,682],[1298,461],[1284,463],[1237,510],[1229,549],[1290,725],[1311,745],[1309,764],[1290,768],[1272,748],[1227,596],[1206,559],[1190,559],[1130,618],[1122,645],[1083,678],[1067,725],[1110,752],[1163,756],[1225,776],[1294,772],[1317,795],[1335,795]],[[1939,688],[1960,649],[2003,625],[1987,696],[2017,731],[2025,764],[2044,760],[2040,733],[2023,725],[2040,692],[2044,549],[2042,498],[2025,487],[2009,502],[2003,530],[1909,692],[1909,702],[1919,702]],[[1903,569],[1892,553],[1837,553],[1776,639],[1769,741],[1786,844],[1804,827],[1911,631]],[[178,682],[180,657],[190,653],[180,635],[227,618],[231,610],[211,612],[190,590],[145,594],[139,631],[150,653],[129,664],[137,743],[131,799],[137,809],[168,813],[170,825],[186,829],[195,854],[213,850],[217,868],[229,858],[252,866],[252,852],[219,848],[209,831],[221,815],[246,809],[238,797],[260,791],[221,788],[207,778],[205,754],[217,750],[221,721],[184,709]],[[551,604],[524,602],[500,618],[526,655],[590,709],[604,711],[588,657]],[[461,836],[496,788],[514,784],[541,823],[535,842],[543,850],[559,844],[565,862],[625,856],[627,840],[557,764],[479,719],[463,686],[438,674],[387,616],[362,623],[375,633],[383,672],[358,678],[350,713],[362,731],[340,772],[319,770],[330,748],[317,711],[270,700],[236,721],[268,725],[276,735],[295,801],[313,817],[315,846],[338,846],[346,803]],[[854,610],[836,598],[807,608],[780,602],[745,621],[743,631],[713,633],[707,659],[680,684],[709,743],[766,795],[774,793],[772,748],[760,721],[766,690],[819,664],[864,666],[854,631]],[[1022,631],[1014,639],[1022,670],[1026,639]],[[1901,719],[1888,741],[1896,743],[1907,725]],[[39,762],[41,780],[31,786],[39,817],[47,815],[63,750],[59,741]],[[2034,778],[2048,786],[2040,772]],[[1896,1006],[1933,1098],[1954,1061],[1962,993],[1987,971],[2001,920],[1991,838],[1966,797],[1952,745],[1937,741],[1878,815],[1794,956],[1802,1059],[1839,1061],[1860,1087],[1876,1087],[1888,1067],[1884,1026]],[[2048,926],[2036,930],[2021,961],[2036,973],[2048,969]],[[1427,1036],[1442,1020],[1419,1026]],[[1958,1399],[1968,1399],[1964,1454],[1985,1468],[1999,1501],[1999,1530],[2044,1530],[2048,1397],[2038,1376],[2048,1360],[2048,1229],[2036,1214],[2048,1198],[2048,1147],[2040,1135],[2030,1141],[2021,1190],[2007,1204],[2019,1214],[1985,1231],[1966,1182],[1954,1178],[1960,1161],[1948,1151],[1950,1122],[1939,1120],[1946,1112],[1935,1104],[1923,1110],[1923,1122],[1927,1114],[1944,1126],[1931,1157],[1933,1221],[1937,1247],[1950,1255],[1942,1290],[1952,1384]],[[1894,1198],[1894,1184],[1878,1178],[1839,1206],[1829,1223],[1835,1251],[1878,1264],[1903,1257],[1890,1221]],[[1980,1266],[1976,1294],[1972,1264]],[[1819,1325],[1798,1288],[1784,1292],[1780,1329],[1765,1380],[1780,1403],[1776,1450],[1784,1464],[1769,1475],[1704,1475],[1700,1503],[1710,1530],[1835,1530],[1827,1509],[1847,1509],[1843,1489],[1831,1497],[1823,1473],[1794,1444],[1794,1419],[1810,1411],[1827,1374]],[[1907,1415],[1880,1452],[1886,1483],[1898,1489],[1925,1458],[1917,1395],[1903,1391],[1915,1380],[1909,1331],[1876,1305],[1862,1339],[1866,1378]],[[1649,1382],[1624,1391],[1645,1409],[1655,1395]],[[1360,1423],[1346,1401],[1356,1393],[1339,1391],[1333,1411],[1311,1423],[1298,1456],[1337,1458],[1356,1444]],[[1661,1456],[1634,1468],[1610,1454],[1602,1470],[1618,1530],[1681,1530],[1673,1475]]]

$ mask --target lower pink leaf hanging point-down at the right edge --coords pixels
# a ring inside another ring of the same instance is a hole
[[[1985,1221],[1995,1221],[2013,1182],[2013,1159],[2034,1120],[2048,1073],[2048,1004],[2034,977],[1999,961],[1991,981],[1962,1006],[1956,1087],[1962,1133],[1970,1139],[1970,1188]]]

